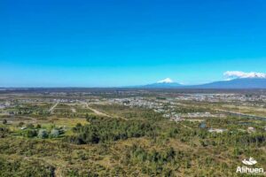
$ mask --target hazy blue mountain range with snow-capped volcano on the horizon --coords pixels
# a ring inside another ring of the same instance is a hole
[[[190,86],[173,81],[160,81],[140,87],[144,89],[266,89],[266,78],[239,78]]]

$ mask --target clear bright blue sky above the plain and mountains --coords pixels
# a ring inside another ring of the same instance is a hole
[[[265,0],[0,0],[0,86],[196,84],[266,72]]]

